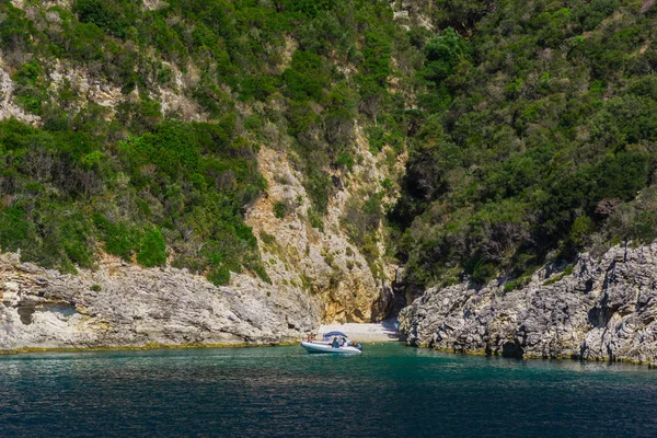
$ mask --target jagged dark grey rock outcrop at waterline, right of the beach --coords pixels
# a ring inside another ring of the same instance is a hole
[[[572,268],[572,273],[570,273]],[[509,288],[507,288],[509,289]],[[429,289],[400,314],[411,345],[535,358],[657,362],[657,244],[551,266],[516,290]]]

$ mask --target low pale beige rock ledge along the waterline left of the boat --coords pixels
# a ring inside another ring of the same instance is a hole
[[[114,257],[68,275],[0,254],[0,351],[279,344],[319,326],[316,299],[247,276],[233,285]]]

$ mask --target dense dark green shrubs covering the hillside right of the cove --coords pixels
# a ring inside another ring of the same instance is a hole
[[[411,285],[465,273],[512,289],[549,254],[653,241],[655,8],[437,3],[424,122],[391,214]]]

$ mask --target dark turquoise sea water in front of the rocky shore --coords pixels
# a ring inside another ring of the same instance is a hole
[[[657,371],[400,344],[0,358],[2,437],[657,436]]]

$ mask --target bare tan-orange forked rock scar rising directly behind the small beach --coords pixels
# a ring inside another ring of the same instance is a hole
[[[320,229],[310,223],[311,201],[301,183],[302,176],[290,165],[287,152],[265,146],[258,152],[267,195],[247,210],[245,221],[258,238],[274,286],[321,298],[325,322],[370,322],[387,315],[390,280],[374,277],[359,249],[349,242],[341,227],[344,205],[353,196],[349,191],[357,184],[379,184],[383,178],[364,176],[377,168],[371,154],[370,160],[372,162],[364,160],[362,165],[355,166],[349,175],[349,188],[343,187],[332,197]],[[284,217],[276,217],[276,204],[286,206]],[[394,267],[389,270],[394,272]]]

